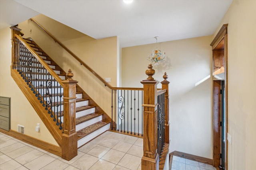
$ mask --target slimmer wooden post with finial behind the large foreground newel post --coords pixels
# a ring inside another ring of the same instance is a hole
[[[162,90],[166,89],[164,102],[165,102],[165,116],[164,116],[164,143],[169,143],[169,81],[166,80],[168,78],[166,72],[163,76],[164,80],[161,82],[162,84]]]

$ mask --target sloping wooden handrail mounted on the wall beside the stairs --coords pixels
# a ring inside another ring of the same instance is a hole
[[[33,21],[34,23],[36,23],[36,25],[38,25],[38,27],[40,27],[45,33],[47,33],[56,43],[58,43],[62,48],[64,48],[68,53],[70,53],[70,55],[72,55],[77,61],[79,61],[80,64],[82,64],[83,66],[85,66],[92,74],[94,74],[94,76],[96,76],[101,82],[103,82],[105,84],[105,86],[108,86],[108,88],[114,90],[115,88],[113,88],[110,84],[108,84],[103,78],[101,78],[94,70],[92,70],[92,68],[90,68],[86,63],[84,63],[81,59],[79,59],[79,57],[77,57],[74,53],[72,53],[72,51],[70,51],[65,45],[63,45],[60,41],[58,41],[58,39],[56,39],[51,33],[49,33],[46,29],[44,29],[44,27],[42,27],[39,23],[37,23],[35,20],[33,20],[32,18],[30,18],[31,21]],[[141,88],[143,89],[143,88]]]

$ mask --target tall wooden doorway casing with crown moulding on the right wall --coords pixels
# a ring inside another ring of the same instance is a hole
[[[220,47],[220,44],[222,47]],[[217,33],[217,35],[214,37],[214,40],[210,44],[212,46],[212,50],[218,50],[220,48],[224,49],[224,81],[225,81],[225,138],[227,139],[227,133],[228,133],[228,24],[222,25],[220,31]],[[214,126],[214,125],[213,125]],[[216,146],[217,144],[215,141],[220,139],[213,139],[213,146]],[[225,169],[228,169],[228,142],[225,143]],[[214,154],[214,153],[213,153]],[[214,156],[214,155],[213,155]],[[213,158],[214,166],[217,165],[219,158]]]

